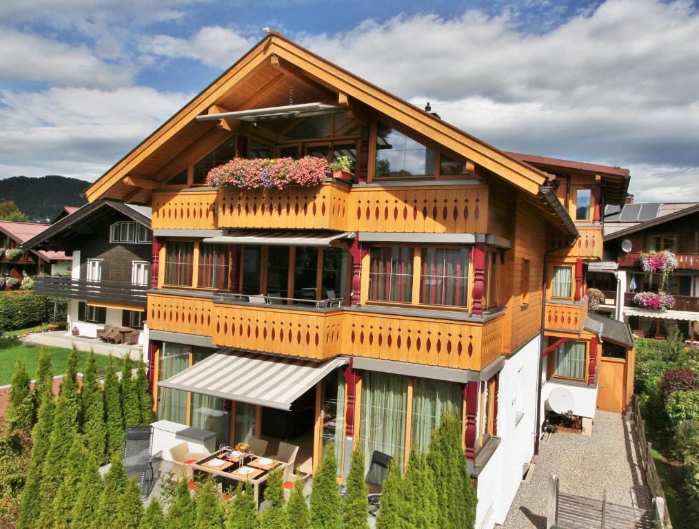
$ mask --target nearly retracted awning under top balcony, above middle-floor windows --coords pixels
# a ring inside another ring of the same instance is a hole
[[[229,231],[226,235],[209,237],[204,242],[219,245],[270,245],[343,247],[354,240],[356,233],[347,231]],[[343,244],[344,243],[344,244]]]

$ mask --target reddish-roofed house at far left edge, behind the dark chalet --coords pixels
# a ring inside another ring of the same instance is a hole
[[[71,263],[71,258],[64,252],[43,251],[31,249],[23,251],[16,257],[6,250],[20,249],[25,241],[38,235],[49,224],[38,224],[36,222],[13,222],[8,220],[0,221],[0,274],[2,277],[15,277],[22,279],[22,272],[27,275],[37,274],[61,274],[65,273]]]

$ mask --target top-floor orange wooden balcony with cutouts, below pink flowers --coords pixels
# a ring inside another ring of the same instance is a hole
[[[331,229],[486,233],[488,187],[354,186],[278,190],[187,189],[158,192],[153,229]]]

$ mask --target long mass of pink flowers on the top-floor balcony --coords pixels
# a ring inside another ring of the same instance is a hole
[[[289,186],[317,187],[330,171],[328,161],[306,156],[293,158],[243,159],[212,168],[206,175],[210,187],[238,189],[284,189]]]

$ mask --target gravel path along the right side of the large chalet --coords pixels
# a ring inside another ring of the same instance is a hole
[[[630,507],[650,506],[643,481],[633,421],[610,412],[596,414],[592,435],[554,433],[539,445],[531,479],[522,483],[505,519],[505,529],[545,529],[549,477],[559,477],[568,494]]]

